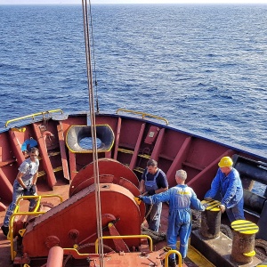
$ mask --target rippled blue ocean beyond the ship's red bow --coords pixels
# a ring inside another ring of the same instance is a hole
[[[101,112],[134,109],[267,149],[267,4],[93,5]],[[89,110],[82,6],[0,5],[0,127]]]

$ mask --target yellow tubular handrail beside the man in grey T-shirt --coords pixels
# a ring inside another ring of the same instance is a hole
[[[13,223],[14,223],[14,219],[15,216],[18,215],[41,215],[41,214],[45,214],[46,211],[44,212],[37,212],[37,209],[40,206],[40,202],[42,198],[60,198],[61,199],[61,203],[63,202],[63,198],[60,195],[43,195],[43,196],[22,196],[20,198],[17,199],[16,201],[16,207],[14,209],[13,214],[11,215],[10,218],[10,222],[9,222],[9,232],[7,235],[7,239],[10,240],[10,248],[11,248],[11,256],[12,256],[12,261],[14,260],[15,256],[16,256],[16,251],[14,250],[14,240],[13,240]],[[18,210],[20,209],[20,200],[22,199],[30,199],[30,198],[37,198],[37,203],[36,203],[36,207],[33,211],[31,212],[18,212]],[[25,231],[20,231],[20,235],[23,236]]]

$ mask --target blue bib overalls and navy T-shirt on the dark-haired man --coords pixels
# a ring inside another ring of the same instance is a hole
[[[148,176],[153,175],[153,180],[149,180]],[[144,186],[145,190],[158,190],[158,182],[157,179],[162,179],[164,181],[161,181],[162,187],[166,188],[168,187],[168,184],[166,182],[166,175],[164,172],[158,168],[158,171],[156,174],[150,174],[148,170],[145,171],[144,175]],[[146,211],[150,210],[150,205],[146,205]],[[151,231],[158,231],[160,226],[160,216],[162,211],[162,203],[157,203],[152,206],[149,216],[147,217],[147,222],[149,223],[149,228]]]

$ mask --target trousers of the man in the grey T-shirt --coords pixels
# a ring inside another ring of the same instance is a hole
[[[31,184],[31,180],[29,180],[28,182],[24,182],[26,186]],[[37,195],[37,194],[35,194]],[[13,183],[13,195],[12,195],[12,203],[10,204],[10,206],[8,206],[6,214],[4,216],[4,223],[3,225],[5,227],[9,227],[9,221],[10,221],[10,217],[12,216],[14,209],[16,208],[16,202],[18,200],[18,198],[22,197],[22,196],[33,196],[30,192],[25,193],[23,187],[20,185],[20,183],[15,180]],[[36,199],[32,198],[29,200],[29,207],[28,210],[34,208],[36,206]]]

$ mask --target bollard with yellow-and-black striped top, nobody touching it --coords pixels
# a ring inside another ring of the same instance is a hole
[[[236,263],[251,263],[255,255],[255,233],[259,227],[247,220],[237,220],[231,223],[233,231],[231,258]]]

